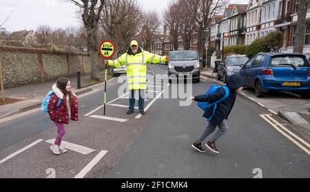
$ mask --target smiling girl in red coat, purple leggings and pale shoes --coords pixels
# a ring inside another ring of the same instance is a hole
[[[48,114],[50,120],[54,121],[58,128],[58,134],[54,144],[50,147],[56,155],[67,152],[67,149],[61,147],[61,140],[65,135],[65,124],[71,120],[78,120],[78,101],[76,94],[71,90],[71,83],[68,78],[59,78],[56,84],[52,86],[54,95],[48,102]],[[60,105],[56,105],[61,100]]]

